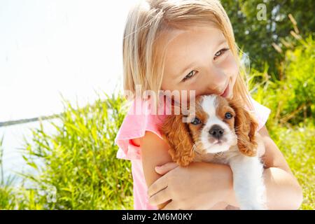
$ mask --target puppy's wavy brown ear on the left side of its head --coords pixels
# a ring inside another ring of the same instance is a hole
[[[183,114],[172,113],[167,116],[159,129],[170,146],[169,155],[174,162],[182,167],[193,162],[195,158],[193,139],[189,133],[188,123],[183,123]]]

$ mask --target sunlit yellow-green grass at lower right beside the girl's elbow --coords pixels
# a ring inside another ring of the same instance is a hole
[[[270,132],[270,131],[269,131]],[[303,190],[300,209],[315,209],[315,126],[314,123],[292,128],[276,125],[270,132]]]

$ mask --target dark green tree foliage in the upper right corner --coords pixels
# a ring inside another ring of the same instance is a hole
[[[239,46],[248,52],[251,66],[261,70],[265,62],[269,64],[269,73],[275,73],[279,78],[277,65],[283,60],[272,47],[272,43],[282,46],[281,38],[290,40],[290,30],[293,25],[288,19],[292,14],[302,34],[313,34],[315,31],[315,1],[313,0],[221,0],[228,13],[235,39]],[[256,17],[260,8],[258,4],[266,6],[266,19]]]

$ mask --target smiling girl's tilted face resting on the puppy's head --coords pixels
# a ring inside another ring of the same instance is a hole
[[[232,98],[239,68],[222,31],[192,27],[168,32],[162,90],[195,90]],[[188,102],[189,102],[188,97]]]

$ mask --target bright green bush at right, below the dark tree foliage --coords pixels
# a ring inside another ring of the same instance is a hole
[[[294,49],[285,52],[281,64],[281,80],[271,79],[265,71],[252,70],[250,86],[258,102],[272,110],[275,124],[314,123],[315,99],[315,41],[309,36]],[[255,83],[260,77],[262,83]]]

